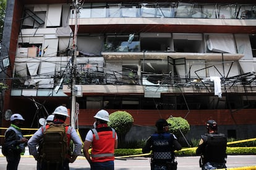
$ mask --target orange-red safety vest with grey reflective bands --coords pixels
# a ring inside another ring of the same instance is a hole
[[[114,161],[116,132],[111,127],[92,129],[92,162]]]

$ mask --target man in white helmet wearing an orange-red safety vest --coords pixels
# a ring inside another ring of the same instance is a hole
[[[94,129],[89,130],[85,137],[83,154],[90,163],[91,169],[114,170],[114,149],[117,148],[117,134],[108,127],[109,113],[100,110],[94,116]],[[92,146],[92,158],[89,148]]]

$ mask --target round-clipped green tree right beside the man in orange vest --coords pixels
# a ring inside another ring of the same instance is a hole
[[[124,142],[127,132],[129,132],[134,118],[126,111],[116,111],[109,115],[108,125],[116,130],[119,142]]]

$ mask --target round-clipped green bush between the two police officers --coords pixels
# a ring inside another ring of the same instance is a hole
[[[176,137],[181,137],[182,134],[185,135],[190,130],[189,122],[182,117],[170,117],[167,119],[167,122],[171,124],[169,127],[170,132],[176,135]]]

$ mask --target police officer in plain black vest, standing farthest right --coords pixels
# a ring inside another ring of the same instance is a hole
[[[200,167],[202,170],[226,168],[227,138],[218,133],[216,121],[207,121],[206,127],[208,134],[201,136],[196,150],[197,155],[201,155]]]

